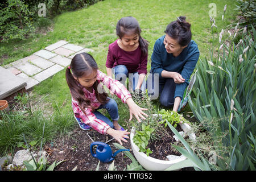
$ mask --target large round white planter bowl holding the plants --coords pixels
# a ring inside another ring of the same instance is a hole
[[[179,123],[181,129],[187,133],[190,139],[196,140],[196,136],[194,133],[189,133],[189,130],[191,127],[187,123]],[[163,171],[164,169],[167,169],[168,167],[172,166],[173,164],[179,163],[185,159],[187,159],[185,156],[177,156],[173,160],[160,160],[160,159],[155,159],[150,156],[147,156],[144,154],[144,152],[139,152],[139,147],[133,142],[133,137],[135,134],[135,128],[133,127],[131,129],[131,134],[130,134],[130,140],[131,140],[131,148],[133,150],[133,154],[135,158],[138,160],[139,164],[143,166],[145,169],[149,171]],[[154,152],[154,151],[153,151]],[[179,169],[177,169],[179,170]]]

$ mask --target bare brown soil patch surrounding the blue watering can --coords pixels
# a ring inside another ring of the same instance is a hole
[[[94,130],[84,131],[77,126],[71,136],[59,138],[55,142],[45,145],[44,150],[46,150],[48,154],[51,154],[48,157],[50,164],[55,160],[57,162],[65,160],[65,162],[55,168],[56,171],[71,171],[76,166],[76,171],[96,170],[99,160],[90,154],[90,144],[92,140],[88,137],[87,133],[94,141],[106,142],[111,138],[110,135],[102,135]],[[123,142],[123,147],[131,149],[130,140],[128,139],[127,141],[127,143]],[[116,148],[113,143],[118,142],[115,140],[108,142],[112,148],[112,152],[115,152],[118,148]],[[131,152],[131,154],[132,153],[133,152]],[[101,162],[99,170],[108,170],[112,162]],[[130,163],[131,160],[122,152],[115,156],[114,166],[118,171],[122,171],[126,168],[127,164]]]

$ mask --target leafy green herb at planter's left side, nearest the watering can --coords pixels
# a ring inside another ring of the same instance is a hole
[[[150,140],[150,135],[154,131],[154,128],[151,128],[150,125],[145,125],[142,123],[142,130],[136,131],[134,135],[134,143],[139,147],[139,152],[146,152],[146,155],[152,154],[150,148],[147,148],[148,140]]]

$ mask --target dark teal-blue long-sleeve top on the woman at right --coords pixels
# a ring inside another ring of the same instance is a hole
[[[199,59],[199,49],[197,44],[191,40],[187,47],[183,49],[179,56],[174,57],[172,53],[168,53],[164,48],[163,40],[166,35],[163,35],[156,40],[154,51],[151,55],[151,73],[158,73],[159,79],[164,79],[161,75],[162,71],[177,72],[185,79],[185,82],[176,84],[175,97],[183,99],[185,88],[189,84],[189,78],[196,67]],[[160,81],[159,80],[159,81]]]

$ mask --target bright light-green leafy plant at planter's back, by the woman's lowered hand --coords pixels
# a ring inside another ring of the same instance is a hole
[[[167,122],[170,122],[174,127],[177,127],[177,124],[180,122],[189,123],[182,114],[176,111],[161,109],[158,113],[162,115],[163,119],[159,123],[164,124],[164,127],[167,127]]]

